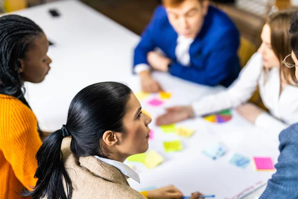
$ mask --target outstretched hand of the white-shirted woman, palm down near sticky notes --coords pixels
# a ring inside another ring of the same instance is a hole
[[[156,118],[156,125],[166,125],[194,117],[192,106],[174,106],[166,108],[166,113]]]

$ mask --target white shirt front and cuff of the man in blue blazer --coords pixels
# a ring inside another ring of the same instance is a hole
[[[177,46],[175,48],[175,55],[177,62],[182,66],[190,66],[189,48],[194,38],[186,38],[183,35],[179,35],[177,38]],[[142,71],[149,70],[150,67],[147,64],[138,64],[135,67],[135,73],[139,74]]]

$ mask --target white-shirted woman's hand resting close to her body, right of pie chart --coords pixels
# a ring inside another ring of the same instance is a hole
[[[262,108],[252,104],[252,103],[244,103],[237,107],[237,112],[242,115],[245,119],[250,122],[255,123],[257,117],[266,112]]]

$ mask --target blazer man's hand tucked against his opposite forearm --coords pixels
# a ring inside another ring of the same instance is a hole
[[[168,65],[171,63],[169,58],[164,57],[155,51],[150,51],[147,54],[147,61],[154,70],[162,72],[167,72]]]

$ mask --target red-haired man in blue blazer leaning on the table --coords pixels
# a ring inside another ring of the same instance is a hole
[[[151,69],[202,85],[228,87],[240,71],[238,47],[236,26],[208,0],[163,0],[135,49],[134,72],[145,92],[161,91]]]

